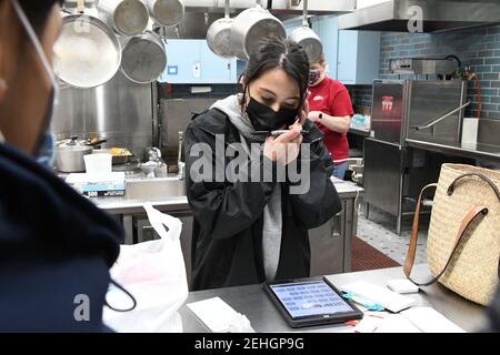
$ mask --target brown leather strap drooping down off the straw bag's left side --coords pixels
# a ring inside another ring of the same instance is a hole
[[[417,251],[417,240],[418,240],[418,232],[419,232],[418,230],[419,230],[419,217],[420,217],[421,199],[422,199],[422,194],[423,194],[423,192],[426,190],[428,190],[429,187],[436,187],[436,186],[437,186],[437,184],[427,185],[420,192],[419,200],[417,202],[417,210],[416,210],[414,217],[413,217],[413,229],[411,231],[410,246],[408,248],[408,254],[407,254],[407,258],[404,261],[404,266],[403,266],[404,275],[407,275],[407,277],[411,282],[413,282],[414,284],[417,284],[419,286],[432,285],[433,283],[436,283],[439,280],[439,277],[442,276],[442,274],[446,272],[446,270],[450,265],[451,260],[453,258],[453,255],[457,252],[458,246],[460,245],[460,242],[462,241],[463,236],[466,235],[466,232],[468,231],[469,226],[479,216],[484,216],[484,215],[488,214],[488,209],[484,207],[484,206],[474,206],[474,207],[472,207],[467,213],[467,215],[463,217],[462,222],[460,223],[460,229],[459,229],[459,231],[457,233],[457,236],[454,239],[453,250],[451,251],[450,256],[448,257],[448,261],[444,264],[444,267],[442,268],[442,271],[436,277],[431,278],[428,282],[423,282],[423,283],[416,282],[413,278],[411,278],[410,275],[411,275],[411,270],[412,270],[413,264],[414,264],[414,254],[416,254],[416,251]]]

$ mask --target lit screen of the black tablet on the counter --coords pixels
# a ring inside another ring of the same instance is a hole
[[[354,312],[324,281],[273,284],[270,287],[292,318]]]

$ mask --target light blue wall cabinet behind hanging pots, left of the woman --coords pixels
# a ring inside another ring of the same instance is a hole
[[[214,84],[237,82],[237,60],[216,55],[206,40],[168,40],[167,68],[160,82]]]

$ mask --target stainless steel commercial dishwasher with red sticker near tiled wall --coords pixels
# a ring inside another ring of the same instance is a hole
[[[377,80],[373,82],[371,138],[364,140],[364,189],[367,211],[374,205],[397,217],[416,210],[420,190],[438,181],[443,163],[462,162],[453,156],[409,146],[408,141],[454,145],[460,141],[462,112],[416,130],[464,101],[461,80]],[[368,217],[367,213],[367,217]]]

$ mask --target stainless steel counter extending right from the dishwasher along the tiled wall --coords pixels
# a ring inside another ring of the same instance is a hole
[[[490,144],[457,143],[439,144],[407,139],[409,146],[429,150],[448,155],[464,156],[471,159],[500,162],[500,146]]]

